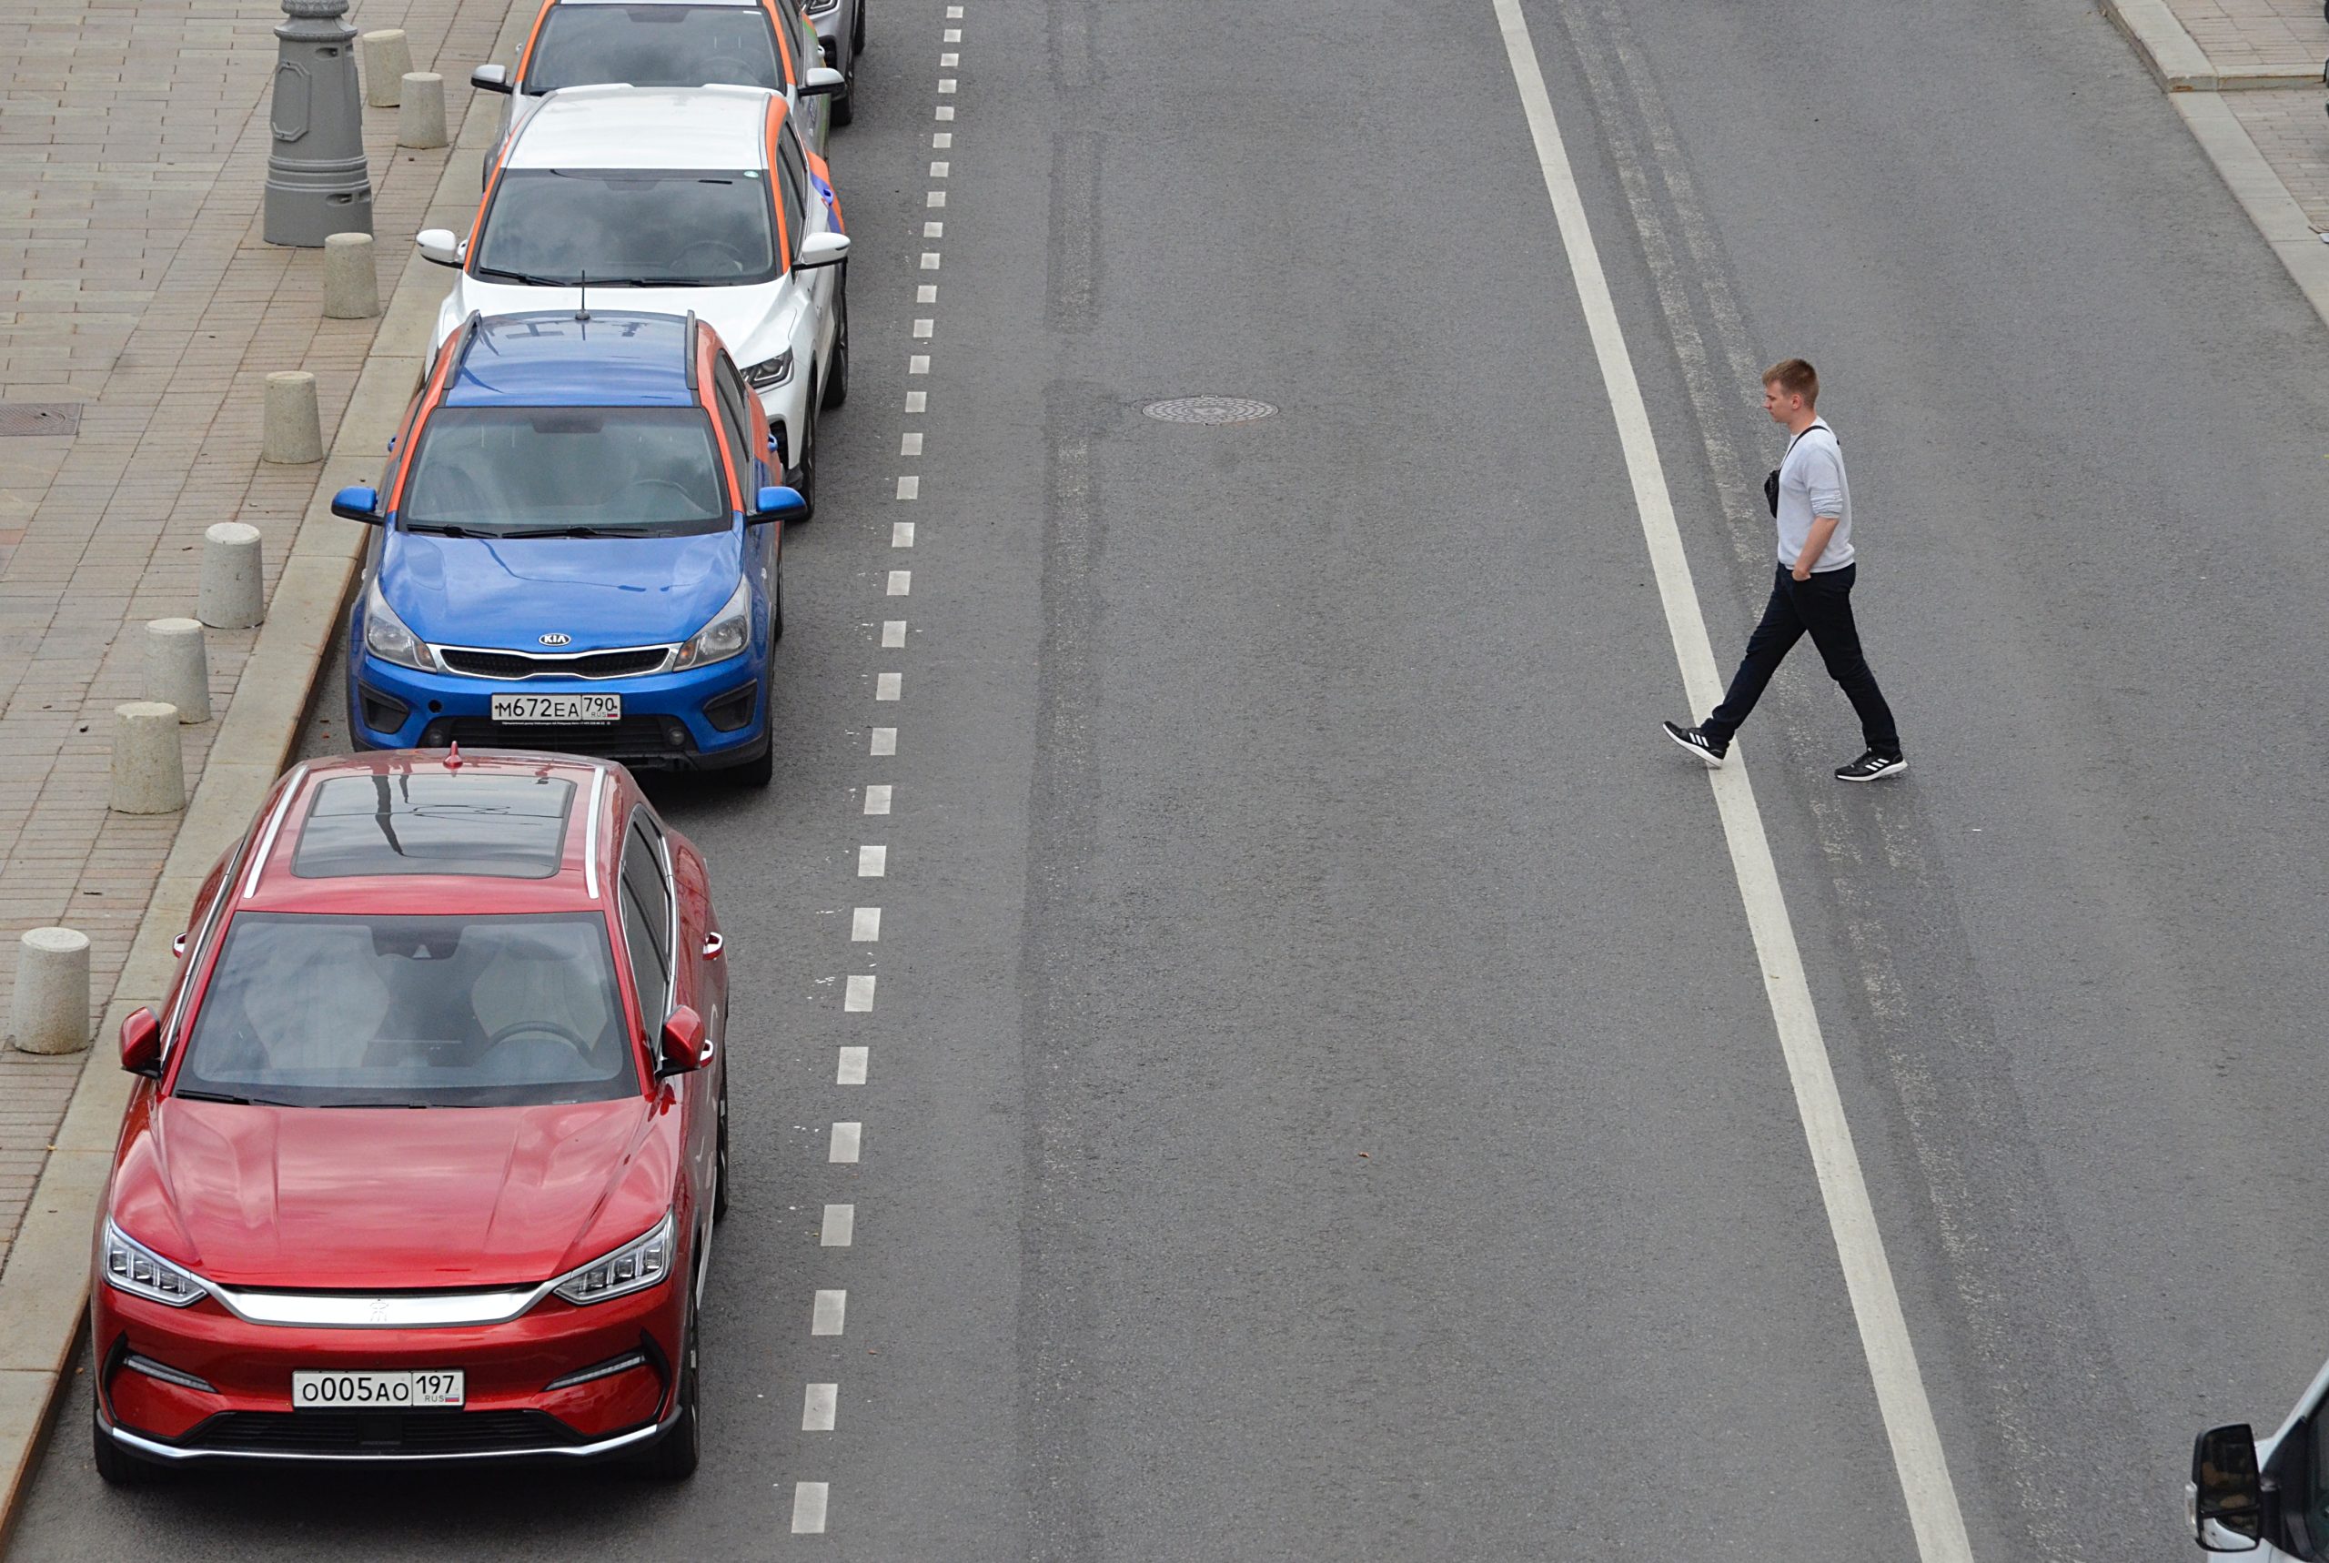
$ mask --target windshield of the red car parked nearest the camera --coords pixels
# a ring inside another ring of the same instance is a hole
[[[172,1085],[275,1106],[540,1106],[636,1090],[594,913],[242,913]]]

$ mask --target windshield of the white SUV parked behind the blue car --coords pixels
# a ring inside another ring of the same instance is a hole
[[[741,287],[776,277],[769,179],[512,168],[470,273],[538,287]]]

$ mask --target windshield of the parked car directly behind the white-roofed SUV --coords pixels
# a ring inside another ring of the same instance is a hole
[[[776,30],[757,5],[557,5],[526,91],[559,86],[759,86],[780,91]]]

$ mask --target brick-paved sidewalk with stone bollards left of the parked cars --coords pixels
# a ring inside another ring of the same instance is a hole
[[[405,28],[417,70],[443,58],[459,126],[510,2],[361,0],[349,21]],[[279,19],[0,0],[0,405],[79,410],[72,433],[0,424],[0,1013],[16,934],[44,922],[91,936],[93,1018],[112,997],[177,834],[105,808],[142,627],[193,613],[212,522],[266,533],[272,592],[319,468],[261,466],[263,377],[314,373],[328,445],[377,326],[321,319],[319,252],[259,238]],[[394,140],[396,109],[366,109],[384,296],[447,156]],[[210,631],[217,710],[254,634]],[[189,787],[212,731],[184,729]],[[0,1048],[0,1267],[84,1058]]]

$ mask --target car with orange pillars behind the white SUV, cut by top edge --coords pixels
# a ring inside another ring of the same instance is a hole
[[[517,70],[480,65],[468,84],[510,100],[484,177],[561,86],[757,86],[785,96],[792,128],[820,156],[829,126],[848,123],[848,77],[824,63],[797,0],[547,0]]]

